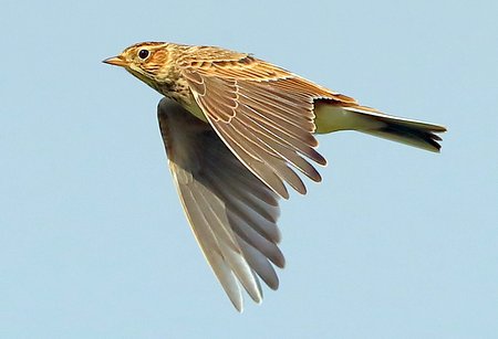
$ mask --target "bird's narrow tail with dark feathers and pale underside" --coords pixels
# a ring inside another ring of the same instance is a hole
[[[433,152],[440,150],[442,138],[436,134],[446,131],[439,125],[394,117],[363,106],[318,102],[314,112],[318,134],[357,130]]]

